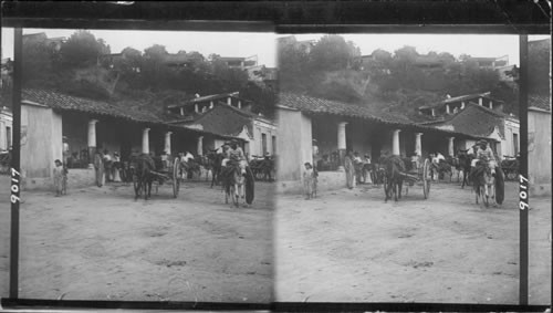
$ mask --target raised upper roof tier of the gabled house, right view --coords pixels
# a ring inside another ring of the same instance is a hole
[[[449,97],[436,104],[419,106],[418,111],[427,116],[442,117],[465,109],[469,103],[476,103],[493,111],[503,112],[504,102],[491,97],[490,94],[487,92]]]

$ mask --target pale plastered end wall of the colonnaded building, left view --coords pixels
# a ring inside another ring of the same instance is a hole
[[[54,160],[62,159],[62,116],[51,108],[21,106],[22,188],[53,188]]]

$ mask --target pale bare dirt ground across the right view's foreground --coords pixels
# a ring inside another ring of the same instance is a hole
[[[275,298],[294,302],[519,301],[518,185],[498,208],[470,188],[414,186],[400,201],[364,185],[313,200],[280,196]],[[551,303],[551,198],[532,198],[531,304]]]

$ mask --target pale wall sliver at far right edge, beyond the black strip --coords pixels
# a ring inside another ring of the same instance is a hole
[[[530,192],[551,196],[551,113],[528,112]]]

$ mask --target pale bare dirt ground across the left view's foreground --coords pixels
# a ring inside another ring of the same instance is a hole
[[[0,190],[0,296],[8,296],[9,177]],[[185,182],[144,201],[132,186],[24,192],[20,298],[123,301],[272,300],[272,185],[249,208]]]

